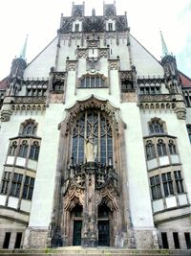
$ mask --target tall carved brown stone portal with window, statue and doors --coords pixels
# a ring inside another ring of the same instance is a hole
[[[52,224],[60,230],[65,245],[117,245],[125,229],[123,207],[119,207],[118,150],[119,130],[125,126],[118,108],[92,95],[68,108],[59,128],[58,168],[63,181],[53,211],[62,210],[57,211]],[[91,143],[93,155],[87,157]]]

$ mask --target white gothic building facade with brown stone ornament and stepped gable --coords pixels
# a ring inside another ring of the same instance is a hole
[[[164,42],[163,42],[164,43]],[[0,247],[191,248],[191,80],[126,14],[61,15],[0,82]]]

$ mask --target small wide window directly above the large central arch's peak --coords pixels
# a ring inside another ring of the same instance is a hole
[[[86,76],[80,79],[81,88],[101,88],[106,87],[105,80],[100,76]]]

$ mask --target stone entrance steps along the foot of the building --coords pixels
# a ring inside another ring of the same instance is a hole
[[[127,249],[114,247],[83,248],[67,246],[46,249],[0,249],[5,256],[191,256],[191,250],[182,249]]]

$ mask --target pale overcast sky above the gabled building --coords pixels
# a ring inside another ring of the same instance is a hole
[[[10,73],[11,60],[20,55],[27,34],[28,63],[56,35],[60,14],[71,15],[72,0],[1,0],[0,4],[0,80]],[[82,4],[76,0],[75,4]],[[105,3],[114,3],[105,0]],[[178,67],[191,77],[191,0],[116,0],[117,14],[127,12],[131,34],[160,59],[159,29]],[[86,0],[85,14],[92,8],[102,14],[102,0]]]

